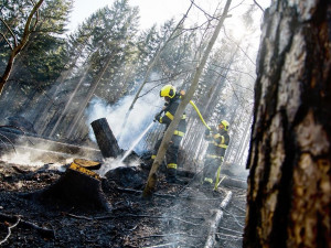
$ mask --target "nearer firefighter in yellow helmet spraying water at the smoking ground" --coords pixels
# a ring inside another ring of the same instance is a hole
[[[164,107],[161,112],[156,115],[154,120],[159,121],[162,125],[166,125],[166,131],[171,121],[173,120],[174,114],[178,109],[178,106],[181,103],[181,94],[177,93],[175,87],[172,85],[166,85],[160,90],[160,97],[164,97]],[[173,132],[173,136],[171,138],[169,148],[167,150],[166,154],[166,163],[167,163],[167,173],[166,173],[166,180],[169,183],[174,183],[177,181],[177,168],[178,168],[178,152],[179,147],[181,143],[181,140],[183,139],[185,131],[186,131],[186,121],[185,121],[185,114],[183,114],[177,129]],[[166,132],[164,131],[164,132]],[[163,133],[164,134],[164,133]],[[162,139],[159,139],[156,143],[153,153],[152,153],[152,161],[157,157],[157,152],[160,148],[160,144],[162,142]]]

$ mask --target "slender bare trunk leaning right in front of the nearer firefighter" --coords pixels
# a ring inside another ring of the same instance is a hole
[[[193,94],[194,94],[195,89],[197,88],[200,76],[203,72],[204,65],[205,65],[206,60],[207,60],[207,57],[211,53],[211,50],[212,50],[212,47],[213,47],[213,45],[214,45],[214,43],[215,43],[215,41],[218,36],[218,33],[221,31],[223,22],[224,22],[226,15],[227,15],[229,4],[231,4],[231,0],[227,0],[226,3],[225,3],[225,7],[224,7],[223,13],[222,13],[222,15],[218,20],[218,23],[215,28],[215,31],[214,31],[214,33],[213,33],[213,35],[212,35],[212,37],[211,37],[211,40],[207,44],[207,47],[204,51],[204,54],[203,54],[203,56],[200,61],[200,64],[196,66],[195,74],[194,74],[192,84],[191,84],[191,86],[188,90],[188,94],[183,97],[183,100],[181,101],[181,104],[179,105],[179,107],[175,111],[173,120],[171,121],[170,126],[168,127],[168,129],[164,133],[164,137],[162,139],[161,145],[160,145],[158,154],[157,154],[157,158],[154,159],[154,162],[153,162],[152,168],[150,170],[146,187],[143,190],[143,196],[145,197],[150,196],[152,194],[152,191],[154,190],[154,186],[156,186],[156,183],[157,183],[158,168],[162,163],[162,160],[166,155],[166,151],[167,151],[167,148],[168,148],[169,142],[171,140],[172,133],[174,132],[174,130],[175,130],[175,128],[177,128],[177,126],[180,121],[180,118],[181,118],[181,116],[183,115],[183,112],[185,110],[185,107],[188,106],[188,104],[192,99]]]

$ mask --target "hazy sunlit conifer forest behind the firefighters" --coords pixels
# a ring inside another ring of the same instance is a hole
[[[28,0],[3,1],[2,19],[15,36],[22,35],[31,9]],[[128,149],[161,109],[160,88],[173,84],[178,89],[188,89],[217,18],[205,13],[203,23],[189,28],[183,18],[181,23],[171,19],[160,26],[140,30],[139,9],[131,7],[128,0],[118,0],[93,13],[68,34],[71,11],[68,0],[50,0],[41,6],[35,30],[17,57],[1,95],[1,123],[23,117],[33,125],[25,130],[28,132],[94,145],[89,123],[107,117],[120,147]],[[221,119],[228,120],[232,141],[226,160],[241,168],[247,158],[250,133],[253,57],[257,53],[260,21],[256,17],[260,14],[261,10],[254,2],[245,7],[241,19],[235,20],[247,29],[239,39],[224,25],[193,97],[210,126]],[[1,32],[11,42],[12,36],[3,23]],[[0,44],[2,72],[10,47],[3,36]],[[124,127],[125,115],[142,82],[145,87]],[[189,126],[182,142],[182,158],[190,166],[203,158],[206,143],[205,127],[194,109],[189,107],[186,115]],[[162,131],[162,126],[154,125],[136,151],[151,150]]]

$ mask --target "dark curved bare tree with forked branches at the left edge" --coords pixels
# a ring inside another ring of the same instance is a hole
[[[11,35],[11,40],[12,40],[12,42],[10,42],[10,40],[7,39],[4,33],[0,33],[0,35],[4,39],[4,41],[7,42],[7,44],[9,45],[9,47],[11,50],[6,69],[0,78],[0,96],[1,96],[2,89],[4,87],[4,84],[7,83],[9,76],[10,76],[10,72],[12,69],[12,66],[13,66],[17,55],[24,48],[24,46],[26,45],[26,43],[29,41],[30,34],[35,30],[35,26],[36,26],[36,23],[39,20],[38,10],[41,7],[41,4],[43,3],[43,1],[44,0],[39,0],[34,4],[33,9],[31,10],[31,12],[26,19],[25,25],[24,25],[24,31],[23,31],[21,41],[19,41],[19,39],[14,35],[11,28],[6,23],[6,21],[2,18],[0,18],[0,21],[4,24],[6,29],[9,31],[9,33]],[[35,15],[35,19],[33,22],[34,15]]]

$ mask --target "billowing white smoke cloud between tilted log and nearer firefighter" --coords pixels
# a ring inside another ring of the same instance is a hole
[[[119,147],[125,150],[129,149],[135,140],[153,121],[154,115],[161,110],[163,99],[160,98],[159,90],[159,87],[154,89],[148,89],[147,87],[145,91],[142,90],[140,94],[142,97],[136,101],[124,129],[125,116],[135,96],[126,96],[115,105],[109,105],[104,99],[97,97],[93,98],[85,112],[90,139],[95,141],[90,122],[99,118],[106,118]],[[145,93],[147,94],[145,95]],[[120,139],[118,140],[119,137]],[[140,142],[134,150],[140,152],[142,149]]]

